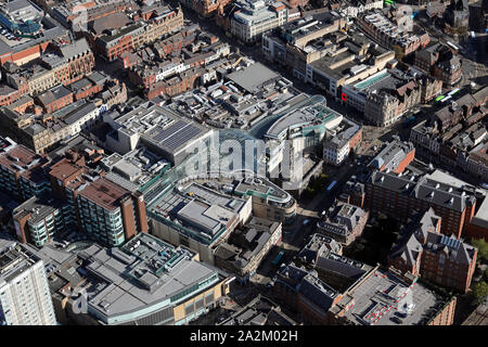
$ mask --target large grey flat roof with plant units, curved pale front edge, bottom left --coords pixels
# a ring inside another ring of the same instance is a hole
[[[216,269],[193,260],[193,252],[146,233],[119,248],[92,244],[77,256],[85,261],[72,262],[69,271],[86,279],[82,286],[89,312],[108,324],[134,321],[178,305],[184,291],[197,294],[221,281]],[[204,281],[206,284],[200,285]]]

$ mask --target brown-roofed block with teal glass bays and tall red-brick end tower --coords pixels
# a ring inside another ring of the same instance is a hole
[[[68,206],[69,222],[108,246],[121,245],[137,233],[147,232],[142,194],[89,171],[84,163],[82,158],[64,158],[49,170],[54,196]]]

